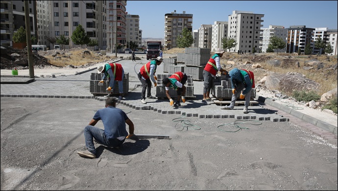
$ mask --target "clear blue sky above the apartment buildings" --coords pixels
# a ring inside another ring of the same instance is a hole
[[[305,25],[309,28],[337,28],[337,0],[127,0],[126,12],[140,16],[142,38],[164,38],[165,14],[193,14],[193,30],[201,24],[228,22],[233,11],[264,14],[269,25]]]

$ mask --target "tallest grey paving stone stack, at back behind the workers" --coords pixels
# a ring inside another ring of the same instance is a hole
[[[185,48],[185,73],[193,76],[194,80],[203,79],[203,70],[210,59],[210,48]]]

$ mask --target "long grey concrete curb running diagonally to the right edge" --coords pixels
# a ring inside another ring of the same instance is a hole
[[[256,97],[259,101],[263,102],[263,103],[266,103],[272,107],[275,107],[277,109],[280,109],[296,118],[299,118],[299,119],[302,119],[306,122],[309,122],[311,124],[314,124],[315,126],[317,127],[320,127],[321,129],[324,129],[330,133],[333,133],[335,135],[337,135],[337,130],[338,130],[338,127],[337,126],[334,126],[334,125],[331,125],[327,122],[324,122],[322,120],[318,120],[318,119],[315,119],[311,116],[308,116],[306,114],[303,114],[299,111],[296,111],[294,109],[291,109],[290,107],[286,107],[280,103],[277,103],[271,99],[266,99],[266,97],[263,97],[263,96],[258,96]]]

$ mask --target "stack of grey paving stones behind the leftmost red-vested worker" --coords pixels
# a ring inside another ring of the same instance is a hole
[[[103,95],[103,94],[108,94],[108,90],[107,88],[109,87],[109,81],[105,80],[103,82],[103,86],[99,86],[98,82],[102,80],[103,77],[103,73],[91,73],[91,79],[90,79],[90,86],[89,86],[89,90],[90,93],[92,93],[93,95]],[[113,90],[111,90],[111,92],[113,92],[113,94],[120,94],[119,93],[119,82],[115,82],[115,87]],[[129,92],[129,73],[126,72],[124,73],[123,76],[123,93],[124,95],[127,95],[127,93]]]

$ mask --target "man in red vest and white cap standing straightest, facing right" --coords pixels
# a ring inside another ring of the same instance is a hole
[[[211,101],[210,90],[213,86],[213,79],[215,78],[217,72],[222,72],[223,74],[228,74],[228,72],[221,68],[220,66],[220,57],[223,56],[225,51],[221,48],[217,48],[215,54],[209,59],[207,65],[205,65],[203,70],[204,78],[204,87],[203,87],[203,100],[202,103],[208,104],[207,101]]]

